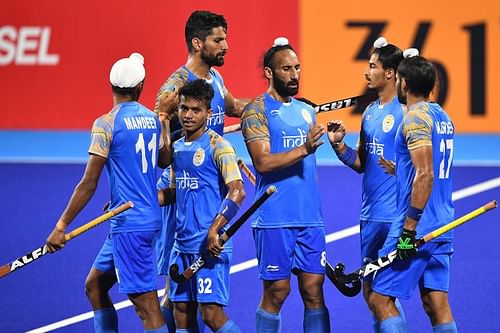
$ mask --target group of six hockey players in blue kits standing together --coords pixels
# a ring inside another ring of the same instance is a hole
[[[316,120],[299,92],[300,61],[284,37],[265,52],[267,90],[235,98],[214,68],[228,50],[222,15],[195,11],[185,26],[186,64],[158,91],[154,112],[138,102],[144,58],[133,53],[110,72],[114,107],[92,127],[89,160],[80,183],[47,239],[50,252],[64,246],[64,233],[94,194],[106,169],[109,209],[134,207],[111,219],[110,233],[86,280],[96,332],[117,332],[109,290],[118,283],[145,332],[241,332],[224,312],[229,304],[233,251],[220,236],[246,198],[234,148],[224,139],[224,118],[240,118],[241,133],[256,171],[255,197],[277,191],[251,217],[262,280],[256,332],[281,332],[280,311],[296,275],[304,304],[304,332],[330,332],[323,284],[325,226],[315,152],[327,134],[332,155],[363,173],[360,213],[361,262],[397,250],[399,260],[363,280],[373,313],[373,332],[406,332],[398,299],[418,286],[433,332],[456,332],[448,286],[452,233],[417,249],[416,240],[454,217],[451,199],[454,125],[429,96],[434,65],[418,50],[402,51],[375,41],[364,73],[378,99],[365,109],[357,146],[344,142],[345,125]],[[156,167],[164,168],[157,179]],[[300,193],[297,195],[297,189]],[[293,204],[291,204],[293,203]],[[208,255],[207,255],[208,254]],[[172,278],[204,256],[187,281]],[[166,275],[157,297],[157,275]],[[366,328],[364,331],[368,331]]]

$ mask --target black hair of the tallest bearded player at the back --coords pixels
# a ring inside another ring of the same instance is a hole
[[[190,53],[194,51],[191,43],[193,38],[196,37],[205,41],[207,36],[212,34],[212,29],[218,27],[224,28],[224,31],[227,32],[227,22],[224,16],[206,10],[192,12],[184,28],[188,51]]]

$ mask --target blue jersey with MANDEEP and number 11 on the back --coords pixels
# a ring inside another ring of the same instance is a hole
[[[89,153],[107,159],[110,209],[134,203],[111,218],[111,233],[160,229],[155,168],[162,145],[158,117],[137,102],[118,104],[94,122]]]

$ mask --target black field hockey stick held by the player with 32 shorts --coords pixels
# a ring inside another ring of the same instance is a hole
[[[220,245],[224,245],[229,238],[231,238],[236,231],[248,220],[248,218],[260,207],[262,204],[276,192],[276,187],[271,185],[237,220],[234,222],[222,235],[219,236]],[[183,283],[193,277],[203,265],[207,262],[208,254],[201,255],[189,267],[179,274],[179,265],[172,264],[169,268],[169,274],[172,280],[177,283]]]

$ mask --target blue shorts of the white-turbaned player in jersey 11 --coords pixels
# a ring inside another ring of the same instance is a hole
[[[92,267],[115,272],[122,294],[144,293],[157,289],[153,245],[157,231],[110,234]]]

